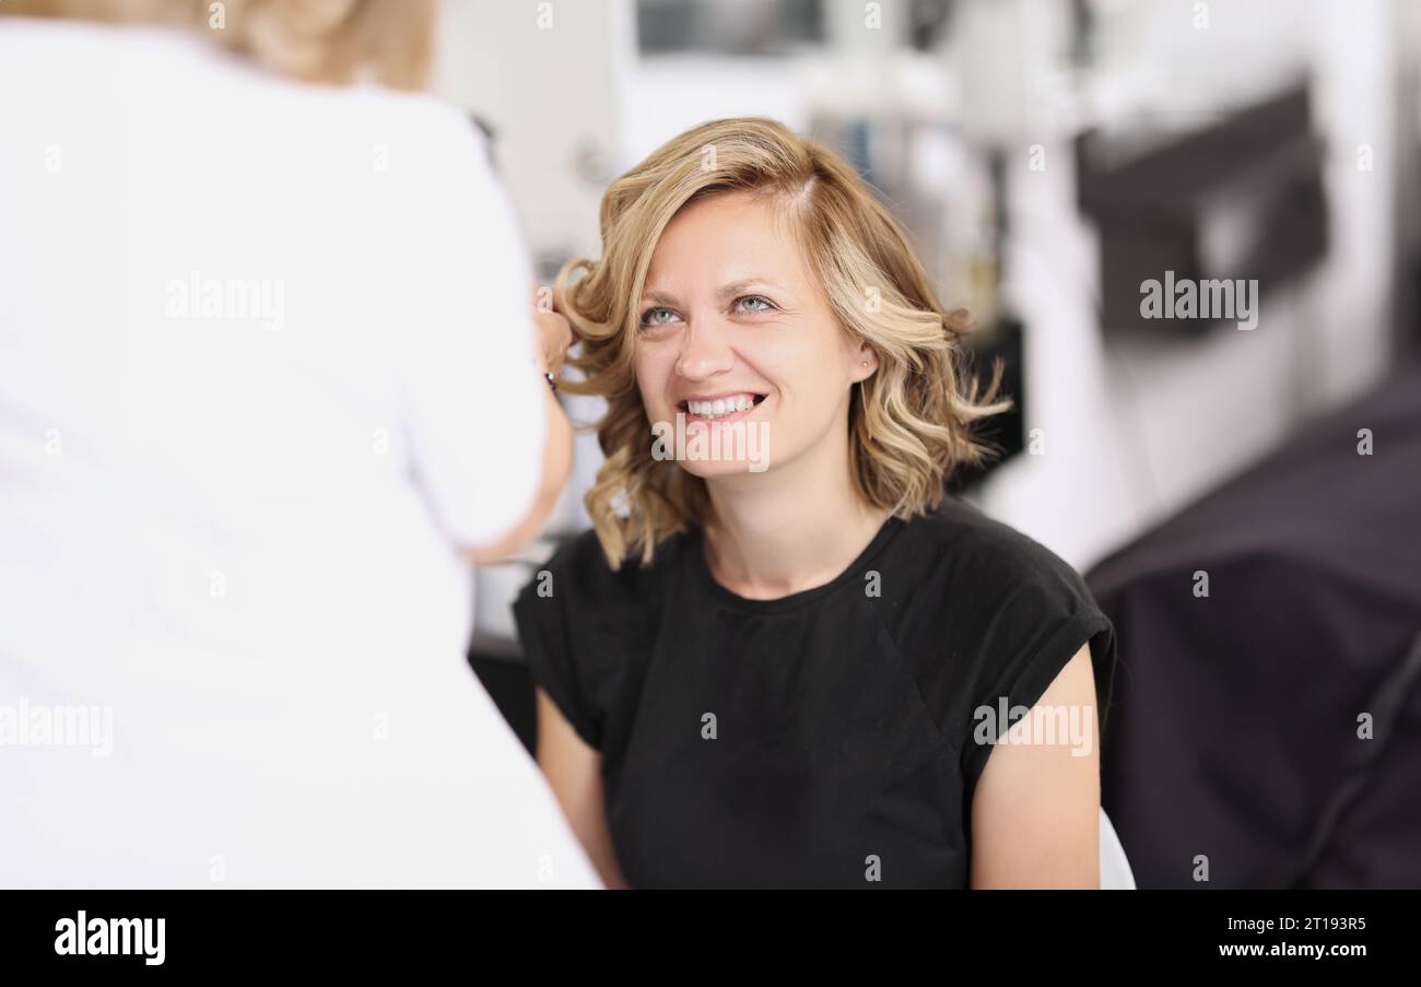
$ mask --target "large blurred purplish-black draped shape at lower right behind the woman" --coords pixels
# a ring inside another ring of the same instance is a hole
[[[1087,575],[1121,656],[1103,804],[1140,888],[1421,886],[1418,506],[1411,365]]]

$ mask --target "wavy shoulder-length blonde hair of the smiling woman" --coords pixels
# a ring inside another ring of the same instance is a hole
[[[966,312],[942,310],[898,223],[843,159],[769,119],[698,126],[607,189],[601,261],[570,261],[556,285],[557,307],[581,337],[568,362],[585,375],[567,389],[607,399],[597,425],[607,462],[585,504],[614,569],[632,554],[649,562],[662,540],[703,524],[710,508],[705,480],[652,459],[632,361],[662,230],[686,203],[733,190],[787,210],[838,321],[878,355],[848,412],[854,481],[868,504],[902,518],[935,508],[952,469],[993,452],[973,439],[972,423],[1012,405],[990,403],[999,362],[980,399],[975,379],[958,379]]]

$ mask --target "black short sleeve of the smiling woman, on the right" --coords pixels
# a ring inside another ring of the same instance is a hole
[[[1080,575],[1026,538],[1016,540],[1005,551],[1013,562],[1006,568],[1010,585],[1000,595],[985,594],[979,616],[982,633],[975,649],[972,709],[961,747],[969,790],[986,768],[993,741],[1040,702],[1083,646],[1090,646],[1096,679],[1098,729],[1090,743],[1097,746],[1104,736],[1114,682],[1115,632]],[[1077,723],[1064,721],[1070,730],[1077,730]]]

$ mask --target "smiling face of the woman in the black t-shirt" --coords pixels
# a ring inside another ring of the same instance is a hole
[[[730,192],[676,213],[652,254],[638,318],[647,418],[664,435],[661,423],[674,430],[684,416],[682,469],[715,477],[783,469],[834,453],[831,443],[847,449],[850,389],[877,359],[840,325],[790,222],[767,199]],[[702,453],[733,450],[733,437],[747,456],[696,457],[698,433]]]

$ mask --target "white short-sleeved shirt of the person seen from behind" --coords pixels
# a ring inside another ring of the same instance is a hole
[[[0,92],[0,886],[597,886],[463,656],[546,427],[473,125],[11,17]]]

